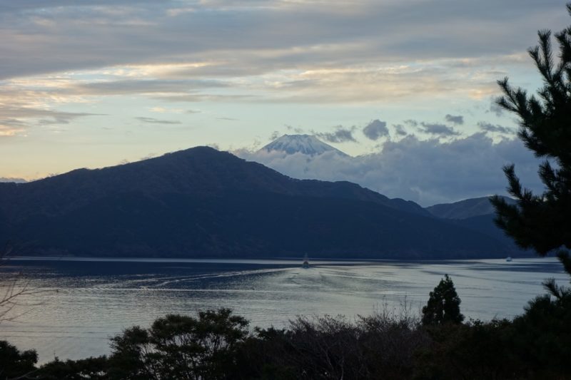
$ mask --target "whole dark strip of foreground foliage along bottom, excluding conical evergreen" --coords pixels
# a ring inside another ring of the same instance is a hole
[[[111,354],[56,359],[0,342],[0,378],[569,379],[571,297],[537,297],[513,320],[422,324],[408,309],[298,317],[253,329],[228,309],[168,315],[111,339]]]

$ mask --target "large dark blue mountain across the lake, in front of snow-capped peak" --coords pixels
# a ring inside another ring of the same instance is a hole
[[[199,147],[0,183],[0,238],[39,255],[503,257],[480,232],[347,182],[295,180]]]

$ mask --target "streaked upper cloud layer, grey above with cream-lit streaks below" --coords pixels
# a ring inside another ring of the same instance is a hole
[[[13,2],[23,4],[0,7],[0,79],[64,74],[71,81],[54,91],[59,98],[481,98],[498,93],[507,68],[529,63],[538,14],[555,30],[567,25],[553,0],[518,3],[517,13],[512,1],[492,0]]]

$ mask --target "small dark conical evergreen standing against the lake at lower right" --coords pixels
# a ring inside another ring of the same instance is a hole
[[[460,313],[460,302],[452,279],[445,274],[434,291],[430,292],[428,303],[423,307],[423,324],[462,322],[464,316]]]

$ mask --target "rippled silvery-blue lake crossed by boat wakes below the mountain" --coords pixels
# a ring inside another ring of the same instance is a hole
[[[40,361],[81,359],[109,351],[108,337],[147,327],[168,313],[229,307],[251,327],[285,327],[296,315],[398,310],[418,313],[444,274],[452,277],[467,318],[521,314],[543,293],[541,282],[568,276],[553,258],[455,261],[96,260],[19,259],[0,278],[21,272],[19,283],[41,293],[22,297],[19,316],[0,324],[0,339],[37,349]],[[45,292],[44,292],[45,291]]]

